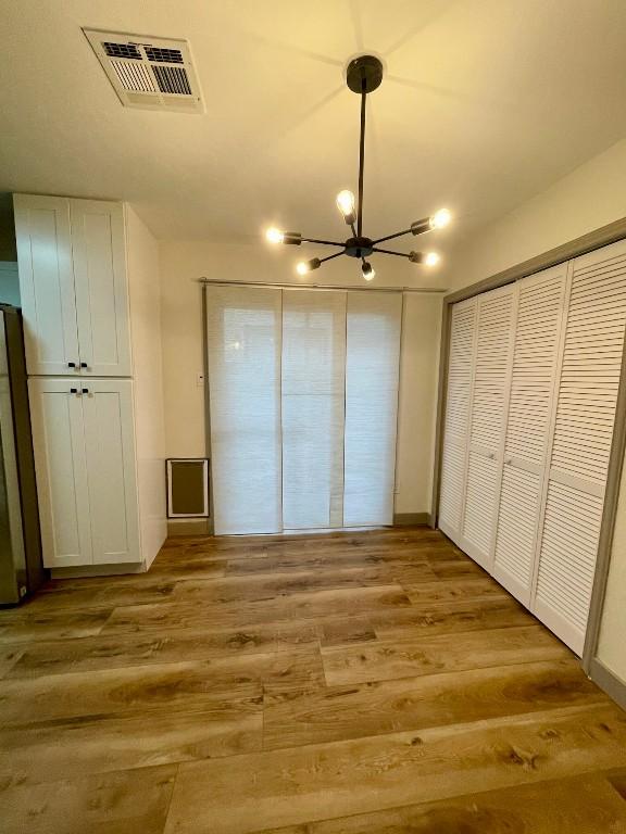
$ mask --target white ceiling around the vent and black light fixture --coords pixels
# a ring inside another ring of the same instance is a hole
[[[0,189],[124,199],[161,239],[341,237],[374,51],[365,232],[475,230],[626,135],[624,0],[0,0]],[[124,109],[80,27],[187,38],[206,113]],[[453,238],[452,238],[453,240]],[[452,242],[452,241],[450,241]]]

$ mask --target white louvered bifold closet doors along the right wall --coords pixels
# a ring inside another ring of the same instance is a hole
[[[439,527],[585,643],[626,328],[626,241],[454,304]]]

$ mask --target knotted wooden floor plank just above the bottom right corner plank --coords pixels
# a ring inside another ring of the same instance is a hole
[[[626,764],[626,716],[572,708],[180,766],[166,834],[245,834]]]

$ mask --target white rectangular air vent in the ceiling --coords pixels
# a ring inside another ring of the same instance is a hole
[[[125,106],[180,113],[204,111],[186,40],[83,31]]]

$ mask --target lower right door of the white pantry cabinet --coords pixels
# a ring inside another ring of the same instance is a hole
[[[93,564],[140,561],[133,383],[83,379]]]

